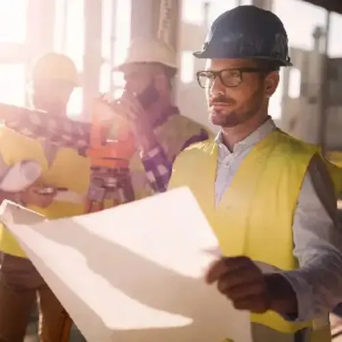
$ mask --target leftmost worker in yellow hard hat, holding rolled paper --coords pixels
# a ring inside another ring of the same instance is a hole
[[[41,126],[37,122],[40,120],[39,116],[34,116],[32,113],[27,116],[25,129],[22,128],[25,134],[20,133],[20,129],[16,130],[16,127],[12,127],[13,129],[1,127],[0,179],[3,180],[0,191],[1,201],[9,199],[18,202],[49,219],[83,213],[81,203],[60,200],[57,195],[60,191],[66,190],[81,195],[86,194],[90,163],[76,150],[59,148],[52,144],[57,133],[52,133],[54,124],[51,117],[66,116],[70,95],[77,86],[79,86],[79,76],[70,58],[57,53],[48,53],[38,58],[31,70],[29,94],[35,109],[47,111],[46,116],[50,119],[47,121],[49,124],[44,125],[44,133],[51,129],[51,133],[48,134],[50,142],[40,142],[35,138],[35,134],[39,135],[38,130]],[[25,163],[27,161],[30,163]],[[34,172],[33,179],[30,177],[26,179],[28,182],[31,179],[34,183],[21,181],[23,184],[21,189],[14,189],[10,187],[12,179],[8,170],[15,170],[18,163],[21,168],[29,165],[32,170],[38,170],[40,173],[37,176]],[[3,178],[4,175],[7,178]],[[2,252],[0,341],[23,341],[37,295],[42,313],[40,341],[68,341],[68,337],[64,337],[64,332],[70,331],[67,313],[34,265],[27,259],[14,237],[2,225],[0,251]]]

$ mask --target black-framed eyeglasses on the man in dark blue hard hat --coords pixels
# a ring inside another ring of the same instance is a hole
[[[269,73],[270,70],[262,70],[258,68],[236,68],[223,70],[202,70],[196,73],[198,84],[201,88],[210,88],[213,85],[216,77],[227,88],[239,86],[242,82],[244,73]]]

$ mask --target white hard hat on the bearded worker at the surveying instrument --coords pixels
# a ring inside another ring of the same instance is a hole
[[[124,66],[135,63],[160,63],[177,69],[176,53],[172,47],[156,38],[139,37],[132,40],[126,59],[114,70],[123,71]]]

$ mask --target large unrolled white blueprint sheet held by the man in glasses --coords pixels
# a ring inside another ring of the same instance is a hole
[[[63,220],[1,210],[87,341],[252,341],[248,313],[205,284],[218,242],[189,189]]]

